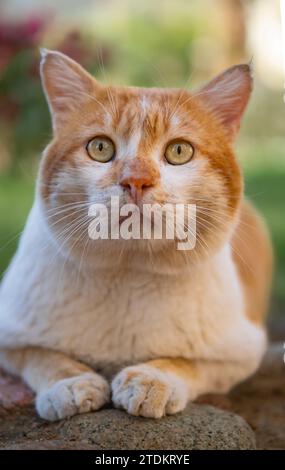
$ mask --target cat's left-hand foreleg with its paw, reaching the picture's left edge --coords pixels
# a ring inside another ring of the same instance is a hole
[[[107,381],[68,356],[41,348],[0,351],[0,367],[36,392],[39,415],[49,421],[97,410],[109,401]]]

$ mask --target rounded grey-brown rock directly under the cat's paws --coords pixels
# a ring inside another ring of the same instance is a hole
[[[46,423],[28,407],[7,413],[0,423],[0,449],[254,448],[254,433],[241,417],[197,404],[159,421],[104,409]]]

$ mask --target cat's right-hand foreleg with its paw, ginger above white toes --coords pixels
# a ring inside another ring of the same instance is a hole
[[[113,402],[136,416],[160,418],[175,414],[202,394],[228,392],[255,371],[257,362],[148,361],[117,374],[112,382]]]

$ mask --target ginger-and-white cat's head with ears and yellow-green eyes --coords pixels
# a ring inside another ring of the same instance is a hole
[[[242,194],[232,143],[252,88],[248,65],[231,67],[190,93],[105,86],[70,58],[45,50],[41,76],[53,140],[38,193],[62,250],[91,264],[141,256],[140,263],[149,257],[165,267],[168,260],[201,259],[222,246]],[[173,240],[90,240],[89,207],[100,203],[110,212],[112,196],[141,211],[144,204],[195,204],[195,248],[186,256]]]

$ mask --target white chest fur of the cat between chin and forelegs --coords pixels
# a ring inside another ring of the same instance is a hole
[[[90,364],[155,357],[254,360],[263,332],[244,316],[229,247],[180,275],[87,275],[43,239],[31,215],[0,289],[0,346],[38,345]],[[37,219],[38,220],[38,219]]]

